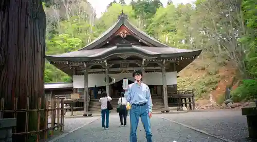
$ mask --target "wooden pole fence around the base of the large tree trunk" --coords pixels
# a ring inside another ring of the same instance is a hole
[[[14,109],[6,109],[5,108],[5,99],[2,98],[0,102],[0,114],[2,118],[5,115],[12,115],[13,118],[19,121],[19,114],[24,113],[26,116],[25,124],[24,124],[24,131],[17,131],[17,128],[14,127],[12,131],[12,137],[14,141],[19,141],[16,139],[19,135],[24,135],[25,141],[41,141],[42,139],[47,140],[50,136],[52,137],[54,132],[56,132],[56,128],[59,131],[64,130],[64,101],[63,99],[51,99],[42,100],[41,98],[38,99],[37,108],[31,109],[30,108],[30,98],[28,97],[26,100],[26,108],[25,109],[18,109],[18,98],[14,98]],[[33,115],[33,119],[36,121],[35,126],[31,126],[31,115]],[[17,117],[18,116],[18,117]],[[35,116],[35,117],[34,117]],[[43,123],[43,124],[42,124]],[[30,124],[30,125],[29,125]],[[32,129],[35,127],[35,129]],[[16,140],[15,140],[16,139]],[[23,140],[22,140],[23,141]]]

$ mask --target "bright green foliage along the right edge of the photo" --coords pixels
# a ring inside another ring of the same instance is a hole
[[[247,32],[242,36],[239,41],[246,45],[246,71],[247,75],[244,78],[243,83],[232,91],[232,98],[236,102],[243,100],[257,99],[257,6],[253,0],[244,0],[242,3],[242,10],[244,14],[245,24],[247,26]]]

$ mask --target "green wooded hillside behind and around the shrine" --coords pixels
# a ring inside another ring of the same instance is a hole
[[[140,30],[171,47],[203,49],[180,72],[178,89],[195,89],[196,99],[223,103],[227,87],[234,101],[257,99],[256,2],[197,0],[163,7],[158,0],[114,1],[100,18],[86,0],[43,3],[47,18],[46,55],[76,51],[111,27],[123,12]],[[46,61],[45,82],[72,78]]]

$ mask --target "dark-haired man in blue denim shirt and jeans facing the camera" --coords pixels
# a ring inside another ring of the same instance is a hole
[[[142,82],[142,76],[143,74],[141,70],[135,70],[133,72],[135,82],[128,85],[128,89],[125,95],[127,102],[131,104],[131,142],[137,141],[137,126],[139,117],[141,117],[147,141],[152,142],[150,118],[152,117],[153,104],[150,89],[148,85]]]

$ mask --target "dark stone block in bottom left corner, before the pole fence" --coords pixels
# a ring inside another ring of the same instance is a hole
[[[12,141],[12,128],[16,126],[16,119],[0,119],[0,142]]]

